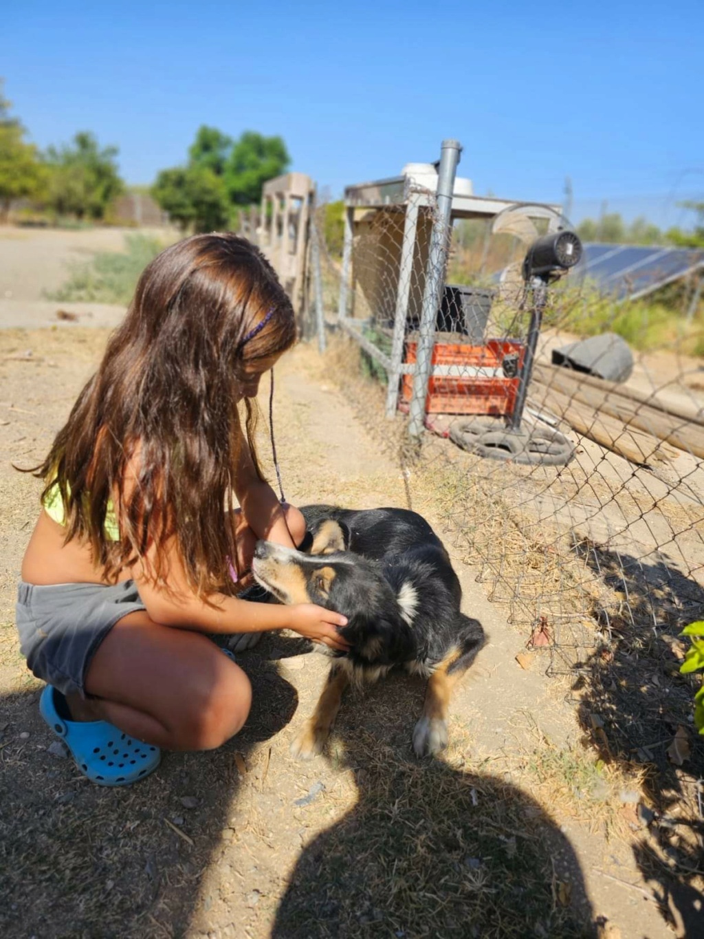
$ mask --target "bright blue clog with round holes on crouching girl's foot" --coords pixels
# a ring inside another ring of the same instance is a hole
[[[63,705],[63,706],[62,706]],[[106,720],[68,720],[66,699],[53,685],[41,692],[39,712],[61,737],[76,765],[99,786],[129,786],[159,766],[161,750],[119,731]]]

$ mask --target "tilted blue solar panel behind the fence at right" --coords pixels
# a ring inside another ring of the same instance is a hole
[[[589,280],[617,300],[633,300],[704,269],[704,251],[662,245],[600,244],[588,241],[574,276]]]

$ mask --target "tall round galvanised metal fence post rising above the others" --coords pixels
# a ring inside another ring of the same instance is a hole
[[[443,140],[442,142],[440,166],[437,171],[436,220],[433,224],[428,266],[425,274],[416,370],[413,376],[413,394],[409,408],[408,433],[411,437],[420,437],[423,431],[425,400],[428,396],[428,380],[432,370],[437,310],[440,306],[448,260],[448,248],[450,247],[450,217],[454,177],[457,172],[457,163],[460,161],[461,150],[462,146],[457,140]]]

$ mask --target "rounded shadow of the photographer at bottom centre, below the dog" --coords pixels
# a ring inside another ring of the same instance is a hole
[[[408,695],[390,707],[390,684],[344,704],[329,752],[352,770],[359,801],[305,847],[273,939],[594,935],[556,822],[501,778],[413,757]]]

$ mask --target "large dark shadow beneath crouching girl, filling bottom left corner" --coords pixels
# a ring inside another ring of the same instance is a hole
[[[0,698],[4,939],[189,931],[233,811],[235,753],[247,759],[298,702],[260,655],[240,664],[253,684],[253,709],[237,737],[207,753],[164,754],[154,774],[124,788],[95,786],[70,759],[49,752],[56,738],[38,716],[38,691]]]

